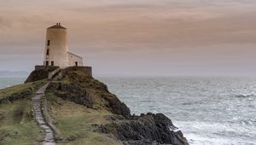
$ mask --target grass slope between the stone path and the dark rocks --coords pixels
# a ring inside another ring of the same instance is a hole
[[[74,102],[62,100],[59,97],[47,94],[49,113],[55,119],[55,126],[61,131],[57,136],[57,144],[72,145],[118,145],[121,144],[113,136],[96,133],[95,124],[105,124],[105,119],[112,113],[106,110],[95,110]]]

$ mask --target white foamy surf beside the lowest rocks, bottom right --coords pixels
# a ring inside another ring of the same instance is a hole
[[[256,138],[253,139],[255,132],[241,125],[195,121],[174,121],[173,123],[182,126],[180,130],[192,145],[256,145]],[[247,134],[251,140],[245,140],[239,136],[240,134]]]

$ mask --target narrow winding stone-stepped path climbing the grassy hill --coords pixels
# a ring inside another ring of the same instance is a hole
[[[33,97],[33,110],[35,118],[38,121],[38,124],[41,126],[41,128],[44,130],[45,136],[44,136],[44,145],[55,145],[55,138],[52,127],[47,123],[45,119],[44,113],[47,112],[47,107],[45,106],[45,90],[48,87],[49,83],[44,84],[43,87],[41,87],[37,93],[36,96]]]

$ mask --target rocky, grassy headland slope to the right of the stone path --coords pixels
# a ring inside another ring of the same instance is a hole
[[[27,82],[42,79],[38,72],[33,73]],[[82,71],[69,71],[61,80],[51,82],[46,96],[49,113],[60,131],[55,135],[59,143],[188,144],[164,114],[131,115],[106,84]]]

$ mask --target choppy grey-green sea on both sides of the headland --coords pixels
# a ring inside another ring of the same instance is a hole
[[[97,78],[131,113],[164,113],[192,145],[256,145],[256,78]],[[0,89],[25,78],[0,78]]]

